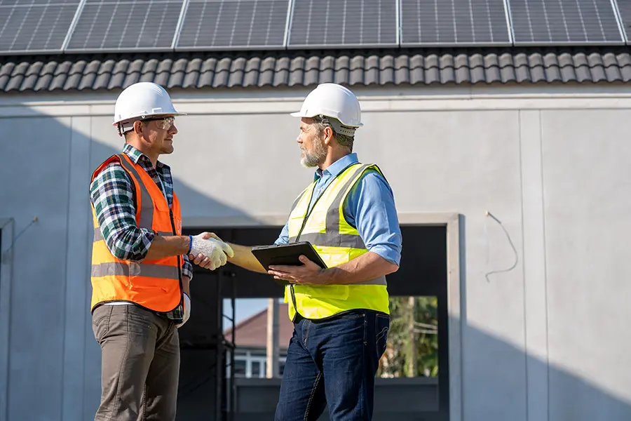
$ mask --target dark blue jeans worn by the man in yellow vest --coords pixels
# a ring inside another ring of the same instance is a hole
[[[299,319],[287,349],[276,421],[371,420],[374,376],[390,317],[353,310],[323,321]]]

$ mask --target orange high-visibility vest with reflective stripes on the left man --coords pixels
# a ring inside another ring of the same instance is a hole
[[[147,171],[133,163],[126,154],[110,156],[97,168],[92,181],[111,162],[120,162],[135,186],[136,225],[151,229],[157,235],[182,235],[182,214],[179,200],[173,193],[172,209]],[[92,243],[91,310],[110,301],[134,302],[155,312],[170,312],[182,301],[181,257],[130,262],[111,254],[103,239],[94,205],[94,240]]]

